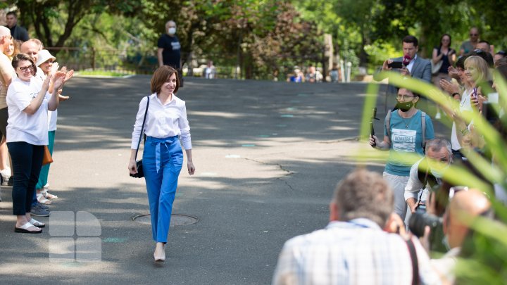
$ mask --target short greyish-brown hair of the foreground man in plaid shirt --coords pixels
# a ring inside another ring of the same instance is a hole
[[[334,191],[340,220],[365,218],[384,227],[394,210],[394,194],[376,172],[358,169],[351,172]]]

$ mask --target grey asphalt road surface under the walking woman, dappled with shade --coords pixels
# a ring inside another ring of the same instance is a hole
[[[365,84],[187,78],[177,95],[196,174],[184,163],[173,214],[199,222],[170,227],[167,259],[155,263],[151,228],[134,220],[149,213],[144,179],[127,172],[149,80],[65,85],[49,172],[59,198],[39,218],[42,234],[18,234],[11,187],[1,187],[0,284],[269,284],[284,241],[325,227],[334,186],[364,146]]]

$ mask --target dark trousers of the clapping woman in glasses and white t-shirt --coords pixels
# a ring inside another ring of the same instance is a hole
[[[35,146],[25,141],[7,143],[12,158],[13,177],[13,215],[26,215],[32,210],[35,185],[39,180],[44,157],[44,146]]]

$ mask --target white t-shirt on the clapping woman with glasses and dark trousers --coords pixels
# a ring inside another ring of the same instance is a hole
[[[47,110],[49,93],[42,101],[41,106],[33,115],[23,110],[30,105],[32,99],[37,97],[42,89],[42,82],[32,77],[30,81],[15,78],[7,90],[7,142],[25,141],[36,146],[48,144]]]

